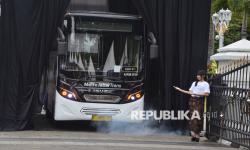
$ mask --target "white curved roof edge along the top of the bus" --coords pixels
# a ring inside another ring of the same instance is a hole
[[[142,17],[138,15],[99,12],[99,11],[70,11],[66,14],[66,16],[96,17],[96,18],[121,19],[121,20],[142,19]]]

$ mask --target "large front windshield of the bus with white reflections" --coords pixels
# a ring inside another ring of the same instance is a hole
[[[72,78],[139,78],[143,37],[130,31],[129,24],[72,23],[67,35],[67,53],[59,59],[60,70],[66,76],[74,75]]]

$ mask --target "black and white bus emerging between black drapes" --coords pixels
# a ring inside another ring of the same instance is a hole
[[[131,120],[144,109],[145,25],[139,16],[70,12],[50,53],[47,114],[55,121]]]

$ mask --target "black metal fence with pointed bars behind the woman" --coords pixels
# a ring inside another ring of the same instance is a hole
[[[207,135],[250,149],[250,62],[225,66],[209,82]]]

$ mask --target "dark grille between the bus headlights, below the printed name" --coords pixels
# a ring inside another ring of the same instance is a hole
[[[86,102],[98,102],[98,103],[118,103],[121,98],[115,95],[92,95],[84,94]]]

